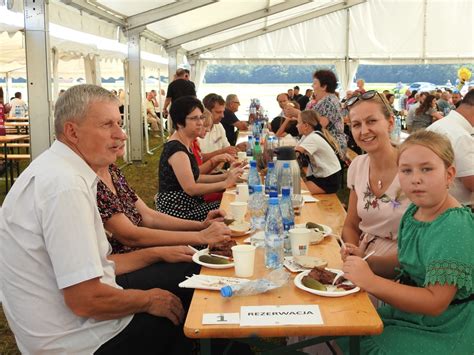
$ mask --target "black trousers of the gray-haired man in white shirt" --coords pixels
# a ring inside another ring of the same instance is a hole
[[[117,284],[124,289],[149,290],[161,288],[181,299],[185,311],[189,309],[193,289],[178,284],[194,273],[194,263],[156,263],[143,269],[117,276]],[[191,341],[183,334],[182,325],[175,326],[169,319],[138,313],[125,329],[103,344],[95,354],[190,354]]]

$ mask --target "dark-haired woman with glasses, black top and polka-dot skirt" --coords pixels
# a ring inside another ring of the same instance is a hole
[[[197,221],[205,220],[208,212],[220,204],[220,201],[206,203],[202,196],[234,185],[243,172],[238,167],[226,174],[200,174],[190,147],[201,133],[203,112],[201,101],[194,96],[183,96],[173,102],[170,116],[175,131],[161,153],[159,192],[155,200],[158,211]]]

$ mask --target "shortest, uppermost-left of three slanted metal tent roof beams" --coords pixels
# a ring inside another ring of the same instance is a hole
[[[209,4],[213,4],[218,0],[193,0],[171,3],[165,6],[160,6],[139,14],[127,17],[126,30],[134,30],[139,27],[149,25],[150,23],[158,22],[169,17],[173,17],[184,12],[198,9]]]

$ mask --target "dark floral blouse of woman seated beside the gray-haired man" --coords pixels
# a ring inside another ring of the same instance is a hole
[[[142,222],[142,216],[135,207],[138,200],[137,194],[128,185],[125,176],[116,165],[109,166],[109,172],[112,176],[117,195],[114,194],[102,181],[97,184],[97,207],[105,224],[114,214],[123,213],[136,226]],[[112,254],[128,253],[140,248],[128,247],[120,243],[112,235],[107,235],[112,245]]]

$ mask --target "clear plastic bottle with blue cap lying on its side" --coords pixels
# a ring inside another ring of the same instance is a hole
[[[286,285],[289,279],[290,274],[285,269],[280,268],[273,270],[262,279],[244,282],[239,285],[224,286],[221,288],[221,295],[223,297],[257,295]]]

